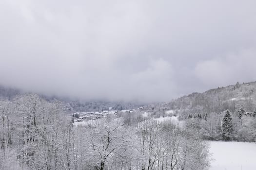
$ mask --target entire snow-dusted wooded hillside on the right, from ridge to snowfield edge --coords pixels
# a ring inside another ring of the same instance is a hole
[[[157,110],[166,109],[175,110],[205,139],[256,141],[256,82],[192,93],[158,105]]]

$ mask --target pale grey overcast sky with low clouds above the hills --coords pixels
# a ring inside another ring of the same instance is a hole
[[[0,0],[0,84],[170,101],[256,81],[256,0]]]

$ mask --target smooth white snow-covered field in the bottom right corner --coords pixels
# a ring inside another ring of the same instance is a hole
[[[256,170],[256,143],[210,142],[209,170]]]

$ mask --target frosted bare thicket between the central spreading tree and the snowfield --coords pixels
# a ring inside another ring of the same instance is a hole
[[[139,123],[137,131],[143,155],[140,170],[204,170],[209,166],[207,143],[193,130],[150,119]]]

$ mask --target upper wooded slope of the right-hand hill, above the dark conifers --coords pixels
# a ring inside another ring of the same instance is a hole
[[[218,87],[203,93],[192,93],[158,107],[180,110],[180,114],[235,112],[243,107],[247,112],[256,109],[256,82]],[[185,115],[186,116],[186,115]]]

